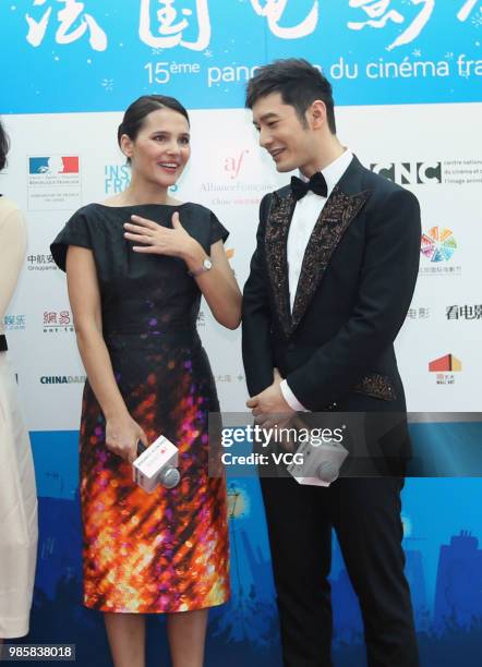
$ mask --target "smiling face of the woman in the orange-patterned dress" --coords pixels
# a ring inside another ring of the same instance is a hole
[[[123,135],[121,146],[136,178],[161,187],[173,185],[191,155],[188,120],[172,109],[156,109],[144,119],[135,140]]]

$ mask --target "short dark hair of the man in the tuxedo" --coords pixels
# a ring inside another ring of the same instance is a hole
[[[272,93],[279,93],[285,105],[294,107],[304,125],[306,109],[321,99],[326,106],[328,128],[336,134],[332,84],[308,60],[288,58],[260,68],[248,83],[246,108],[252,109],[258,99]]]

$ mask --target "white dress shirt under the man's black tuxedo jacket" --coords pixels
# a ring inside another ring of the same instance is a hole
[[[327,185],[328,197],[333,192],[333,189],[338,183],[340,178],[347,171],[353,154],[351,150],[345,150],[336,160],[330,165],[322,169],[321,172],[325,177]],[[300,178],[303,181],[308,181],[302,173]],[[304,252],[306,250],[308,242],[313,232],[314,226],[316,225],[320,215],[325,207],[328,197],[323,197],[315,194],[311,190],[297,202],[294,207],[293,217],[291,219],[290,229],[288,232],[287,242],[287,256],[288,256],[288,284],[290,291],[290,307],[293,310],[294,298],[297,294],[298,281],[300,279],[301,266],[303,264]],[[286,402],[290,408],[298,412],[309,412],[297,399],[294,393],[291,391],[287,380],[282,380],[280,389]]]

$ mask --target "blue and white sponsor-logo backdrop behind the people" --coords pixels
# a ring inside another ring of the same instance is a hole
[[[291,175],[278,174],[257,144],[245,83],[256,66],[285,57],[306,58],[328,75],[344,145],[421,203],[419,280],[396,347],[409,411],[434,415],[410,427],[436,453],[438,444],[480,434],[460,413],[481,412],[482,2],[12,0],[0,5],[0,113],[12,143],[0,192],[25,210],[29,231],[4,317],[40,496],[28,641],[76,643],[81,664],[100,666],[109,664],[101,618],[80,606],[85,371],[49,244],[76,208],[129,184],[116,140],[124,108],[148,93],[189,108],[192,158],[172,190],[230,230],[226,245],[242,284],[260,201]],[[245,411],[240,331],[221,329],[205,303],[197,325],[222,411]],[[406,484],[403,546],[424,667],[479,659],[481,492],[480,478],[461,476]],[[206,664],[279,667],[257,480],[230,478],[229,500],[233,596],[212,614]],[[337,665],[363,665],[360,613],[336,544],[332,583]],[[166,651],[164,634],[153,634],[153,658]]]

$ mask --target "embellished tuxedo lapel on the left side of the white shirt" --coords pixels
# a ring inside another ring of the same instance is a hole
[[[291,192],[273,193],[266,220],[265,248],[269,282],[285,335],[288,337],[292,323],[288,282],[287,241],[294,209]]]

